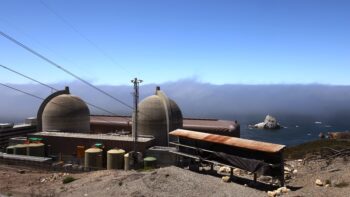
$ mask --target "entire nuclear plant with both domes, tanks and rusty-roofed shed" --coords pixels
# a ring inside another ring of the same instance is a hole
[[[136,106],[132,116],[92,115],[66,87],[43,100],[33,124],[0,136],[0,160],[81,171],[205,162],[277,176],[283,184],[283,145],[240,139],[237,121],[184,118],[160,87]]]

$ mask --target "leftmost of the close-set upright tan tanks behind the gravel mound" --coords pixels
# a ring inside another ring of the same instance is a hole
[[[102,149],[89,148],[85,151],[85,169],[99,170],[102,168]]]

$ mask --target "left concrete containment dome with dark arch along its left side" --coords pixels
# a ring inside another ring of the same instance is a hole
[[[90,132],[90,111],[77,96],[61,94],[49,100],[42,112],[42,131]]]

